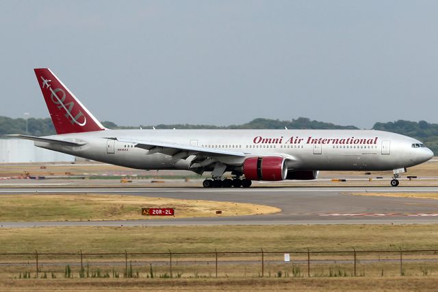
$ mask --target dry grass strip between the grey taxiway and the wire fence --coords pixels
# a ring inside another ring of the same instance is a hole
[[[53,227],[0,232],[0,252],[438,248],[438,225]]]

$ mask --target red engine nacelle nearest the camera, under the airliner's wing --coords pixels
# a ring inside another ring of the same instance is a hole
[[[244,161],[243,173],[247,180],[285,180],[286,159],[276,156],[247,158]]]

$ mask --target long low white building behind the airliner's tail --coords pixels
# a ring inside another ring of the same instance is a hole
[[[34,146],[34,141],[0,139],[0,163],[74,162],[75,156]]]

